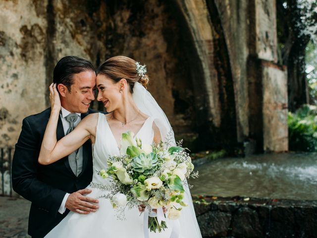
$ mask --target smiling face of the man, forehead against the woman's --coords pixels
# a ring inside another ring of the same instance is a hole
[[[94,71],[76,73],[73,75],[73,80],[70,91],[65,88],[61,106],[71,113],[86,113],[91,101],[95,100],[96,73]]]

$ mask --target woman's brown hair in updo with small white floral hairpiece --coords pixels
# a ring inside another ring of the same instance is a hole
[[[130,85],[130,92],[133,93],[133,87],[136,82],[141,83],[145,88],[147,88],[147,84],[149,83],[149,77],[145,73],[140,74],[140,70],[137,69],[138,62],[132,60],[129,57],[125,56],[115,56],[108,60],[106,60],[102,65],[97,69],[97,75],[103,74],[108,76],[113,80],[113,82],[117,83],[120,79],[125,78],[127,83]],[[139,64],[140,65],[140,64]],[[143,67],[141,65],[141,67]]]

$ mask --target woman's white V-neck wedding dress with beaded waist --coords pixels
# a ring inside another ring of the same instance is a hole
[[[154,132],[152,129],[153,118],[149,117],[135,136],[148,144],[152,144]],[[97,171],[107,168],[107,158],[119,155],[120,151],[112,131],[108,125],[106,116],[99,113],[96,141],[93,145],[93,180],[94,183],[108,185],[110,179],[102,179]],[[89,197],[98,198],[107,193],[89,185],[92,192]],[[187,190],[187,203],[191,203],[190,193]],[[170,238],[173,229],[178,228],[178,238],[201,238],[194,208],[192,205],[184,207],[178,220],[168,220],[167,229],[161,233],[149,233],[150,238]],[[95,213],[81,215],[70,212],[46,238],[144,238],[143,216],[137,207],[125,209],[125,219],[117,218],[117,210],[112,208],[109,199],[99,198],[99,209]]]

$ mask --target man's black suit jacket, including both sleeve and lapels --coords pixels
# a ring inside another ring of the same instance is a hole
[[[88,113],[81,114],[83,119]],[[23,119],[22,131],[15,145],[12,161],[12,186],[14,191],[32,202],[28,234],[34,238],[47,235],[69,212],[58,209],[66,194],[85,188],[92,179],[92,149],[88,140],[83,145],[83,170],[76,177],[71,171],[68,157],[51,165],[40,165],[38,157],[50,118],[51,108]],[[57,140],[64,136],[62,121],[57,124]]]

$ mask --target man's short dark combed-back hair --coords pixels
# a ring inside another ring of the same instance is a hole
[[[53,83],[65,85],[70,92],[70,86],[74,83],[74,74],[95,70],[94,65],[89,60],[77,56],[65,56],[55,65]]]

